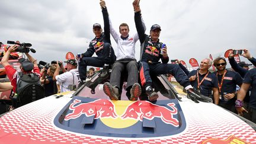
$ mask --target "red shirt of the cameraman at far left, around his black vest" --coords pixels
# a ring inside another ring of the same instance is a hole
[[[18,79],[20,79],[20,76],[18,75],[18,71],[16,69],[12,68],[11,65],[5,66],[5,71],[6,71],[7,76],[11,82],[11,85],[13,87],[12,91],[16,92],[17,82],[18,82]],[[41,77],[40,70],[36,66],[34,66],[34,68],[33,68],[33,73],[36,73],[39,76],[39,78]]]

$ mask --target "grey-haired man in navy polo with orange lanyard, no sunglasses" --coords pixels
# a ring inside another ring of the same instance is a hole
[[[194,89],[198,90],[200,94],[212,98],[215,104],[219,104],[217,77],[208,70],[211,66],[211,59],[203,59],[200,63],[199,69],[191,71],[188,74],[188,78]]]

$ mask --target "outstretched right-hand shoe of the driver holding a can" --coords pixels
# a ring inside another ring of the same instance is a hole
[[[187,98],[193,100],[195,103],[199,103],[199,101],[213,103],[212,98],[200,94],[200,92],[195,91],[193,88],[187,90]]]

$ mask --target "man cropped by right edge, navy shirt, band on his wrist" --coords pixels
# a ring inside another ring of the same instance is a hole
[[[251,69],[246,73],[240,91],[238,92],[235,107],[239,115],[242,115],[244,111],[248,113],[243,107],[242,101],[244,100],[249,87],[252,88],[249,100],[249,115],[251,116],[249,120],[256,123],[256,68]]]

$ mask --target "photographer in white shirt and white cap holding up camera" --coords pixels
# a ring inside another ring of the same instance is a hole
[[[57,62],[59,63],[59,62]],[[78,87],[79,83],[79,72],[77,69],[77,62],[75,59],[69,59],[66,61],[67,63],[67,72],[59,75],[60,66],[56,65],[57,68],[53,75],[53,80],[57,81],[57,84],[60,84],[60,92],[71,91],[70,85],[76,85]]]

